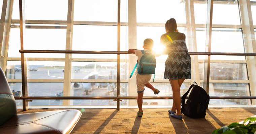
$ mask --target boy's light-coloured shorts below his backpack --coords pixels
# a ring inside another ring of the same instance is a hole
[[[149,83],[151,74],[136,74],[137,92],[141,93],[145,90],[145,84]]]

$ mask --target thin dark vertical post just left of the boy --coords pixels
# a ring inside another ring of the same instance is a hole
[[[118,0],[117,11],[117,51],[120,52],[120,2]],[[117,54],[117,97],[120,96],[120,54]],[[120,99],[117,99],[117,110],[120,110]]]

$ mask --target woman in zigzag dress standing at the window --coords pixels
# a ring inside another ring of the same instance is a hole
[[[174,18],[166,21],[165,31],[161,36],[161,43],[165,45],[165,53],[168,54],[164,78],[169,79],[173,96],[172,108],[168,112],[172,117],[182,120],[180,87],[185,79],[191,79],[191,58],[185,42],[186,36],[178,32]]]

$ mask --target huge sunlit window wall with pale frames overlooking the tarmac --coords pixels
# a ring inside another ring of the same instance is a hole
[[[115,52],[142,49],[146,38],[154,40],[154,51],[162,52],[164,24],[175,18],[177,29],[186,35],[189,52],[239,53],[191,55],[192,79],[184,81],[181,94],[196,81],[201,87],[208,85],[210,96],[256,96],[255,56],[243,55],[255,53],[256,1],[216,0],[210,4],[204,0],[0,0],[0,67],[16,98],[137,96],[135,76],[129,78],[136,56]],[[163,79],[166,58],[165,54],[156,57],[155,81],[151,79],[161,90],[157,96],[162,97],[172,96],[169,81]],[[144,96],[156,96],[145,89]],[[34,99],[27,103],[31,108],[137,106],[134,99]],[[22,107],[23,100],[16,99],[16,104]],[[143,99],[143,107],[170,105],[172,99]],[[255,106],[255,99],[211,99],[210,105]]]

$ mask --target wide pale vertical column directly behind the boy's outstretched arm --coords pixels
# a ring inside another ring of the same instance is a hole
[[[137,49],[137,19],[136,19],[136,0],[128,0],[128,42],[129,49]],[[129,55],[129,75],[131,74],[133,67],[137,62],[135,55]],[[136,91],[136,76],[133,74],[132,78],[129,78],[129,96],[137,96]],[[137,102],[129,100],[129,106],[136,106]]]

